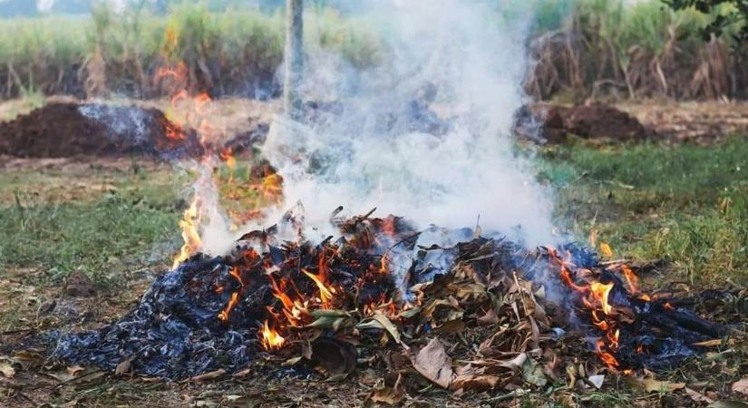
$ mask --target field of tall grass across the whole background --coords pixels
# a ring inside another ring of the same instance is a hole
[[[526,85],[536,98],[748,97],[748,49],[733,44],[733,31],[704,39],[711,16],[675,13],[658,0],[512,0],[495,20],[528,14]],[[162,96],[155,71],[182,61],[193,91],[264,98],[279,90],[283,36],[281,12],[189,3],[165,16],[100,8],[90,17],[0,20],[0,96],[152,98]],[[306,42],[358,68],[387,58],[374,27],[325,6],[307,7]]]

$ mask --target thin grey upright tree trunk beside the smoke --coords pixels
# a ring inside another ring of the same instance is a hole
[[[283,102],[288,118],[298,120],[301,116],[299,84],[304,69],[304,0],[286,0],[286,75]]]

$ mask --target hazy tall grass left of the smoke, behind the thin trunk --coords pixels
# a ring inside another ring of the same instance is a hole
[[[320,46],[355,66],[374,63],[378,41],[360,24],[329,11],[310,12],[306,19],[307,30],[316,30],[308,37]],[[160,96],[153,74],[180,61],[192,89],[267,96],[277,92],[283,35],[283,15],[249,8],[214,13],[199,3],[175,6],[166,16],[100,9],[92,17],[0,20],[0,92],[9,98],[35,87],[86,96],[92,73],[103,72],[94,82],[105,81],[114,92]]]

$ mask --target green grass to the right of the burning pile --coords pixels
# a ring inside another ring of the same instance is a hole
[[[576,145],[542,156],[557,218],[574,233],[597,231],[618,256],[668,260],[694,284],[748,281],[748,140]]]

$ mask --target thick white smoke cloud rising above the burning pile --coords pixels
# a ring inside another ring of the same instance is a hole
[[[376,207],[420,228],[471,227],[480,216],[484,231],[553,242],[549,192],[510,138],[527,20],[501,22],[486,2],[371,5],[383,62],[361,72],[307,50],[306,100],[332,108],[271,127],[263,153],[284,177],[284,207],[300,200],[320,222],[339,205],[351,215]]]

